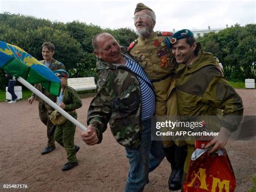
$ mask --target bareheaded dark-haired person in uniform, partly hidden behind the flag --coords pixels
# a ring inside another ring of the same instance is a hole
[[[42,62],[44,66],[48,67],[51,70],[58,70],[58,69],[64,69],[65,66],[62,62],[59,62],[52,58],[53,54],[55,53],[55,46],[51,42],[44,42],[42,44],[42,56],[43,59]],[[41,91],[44,95],[49,97],[51,101],[56,102],[56,96],[51,95],[48,91],[46,91],[41,84],[35,84],[35,87]],[[28,99],[29,103],[32,104],[35,99],[35,94],[32,94],[32,96]],[[38,110],[39,110],[39,118],[41,121],[47,126],[47,137],[48,137],[48,144],[44,148],[44,150],[41,152],[41,154],[50,153],[52,150],[55,150],[55,141],[54,141],[54,134],[50,134],[50,130],[53,127],[53,124],[51,123],[49,117],[48,117],[48,110],[53,111],[54,109],[45,101],[43,101],[41,98],[36,96],[36,100],[39,101],[38,103]]]

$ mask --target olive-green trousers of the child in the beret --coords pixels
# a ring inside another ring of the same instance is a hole
[[[77,118],[77,114],[73,113],[72,116]],[[66,150],[66,158],[68,162],[77,162],[76,150],[74,145],[74,136],[76,132],[76,125],[69,120],[63,125],[56,126],[54,138]]]

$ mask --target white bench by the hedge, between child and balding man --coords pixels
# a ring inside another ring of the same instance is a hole
[[[68,86],[76,91],[93,90],[96,89],[94,77],[78,77],[68,79]]]

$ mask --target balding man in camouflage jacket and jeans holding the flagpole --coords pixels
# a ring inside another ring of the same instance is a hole
[[[149,172],[164,158],[161,141],[151,141],[151,117],[156,109],[152,84],[109,33],[96,35],[92,46],[99,78],[88,111],[87,131],[81,137],[88,145],[100,143],[109,122],[130,162],[125,191],[142,191],[149,182]]]

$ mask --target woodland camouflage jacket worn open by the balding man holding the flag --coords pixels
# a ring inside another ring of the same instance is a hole
[[[122,52],[133,59],[123,49]],[[142,131],[142,104],[136,74],[124,65],[113,65],[99,59],[96,68],[99,70],[97,94],[88,110],[87,125],[96,127],[100,143],[109,122],[112,134],[120,145],[138,148]]]

